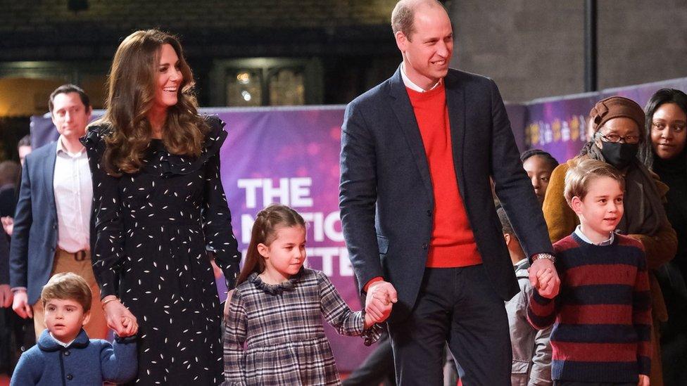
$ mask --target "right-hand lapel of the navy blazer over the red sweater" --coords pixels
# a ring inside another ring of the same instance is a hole
[[[450,124],[451,150],[453,152],[453,167],[458,180],[458,191],[465,202],[465,92],[458,79],[450,70],[444,78],[446,85],[446,105],[448,105],[448,121]]]

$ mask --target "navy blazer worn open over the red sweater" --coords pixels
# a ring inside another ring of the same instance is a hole
[[[493,80],[458,70],[444,78],[455,177],[493,289],[519,290],[491,197],[496,194],[528,255],[553,252]],[[398,292],[389,321],[415,304],[424,275],[434,194],[401,68],[346,107],[341,134],[341,224],[358,282],[383,276]]]

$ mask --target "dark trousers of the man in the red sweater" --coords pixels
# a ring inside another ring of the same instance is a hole
[[[508,317],[481,264],[425,269],[410,316],[389,333],[400,386],[442,385],[446,342],[462,385],[510,385]]]

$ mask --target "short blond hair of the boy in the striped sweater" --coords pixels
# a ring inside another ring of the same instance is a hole
[[[600,177],[609,177],[618,181],[620,189],[625,190],[625,179],[613,165],[592,158],[581,158],[565,173],[563,195],[568,205],[570,205],[573,197],[584,200],[591,181]]]

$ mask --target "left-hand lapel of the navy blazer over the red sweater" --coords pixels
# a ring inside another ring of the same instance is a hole
[[[391,77],[389,85],[391,87],[389,94],[392,98],[392,110],[394,114],[396,114],[398,125],[401,127],[405,140],[408,142],[408,147],[417,165],[417,171],[420,172],[424,187],[427,188],[429,198],[434,204],[434,193],[431,188],[427,153],[424,151],[422,136],[420,136],[420,128],[417,126],[415,112],[412,111],[412,105],[410,105],[408,91],[405,91],[405,84],[403,84],[403,78],[401,77],[401,66],[398,66],[398,70],[396,70],[396,73]]]

